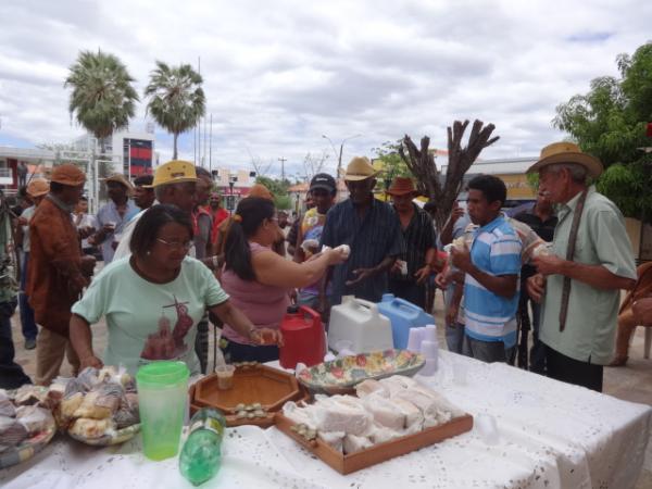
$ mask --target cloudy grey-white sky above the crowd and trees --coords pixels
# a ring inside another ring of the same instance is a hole
[[[141,93],[155,60],[197,64],[213,114],[213,165],[248,168],[308,153],[334,168],[404,134],[446,148],[454,120],[493,123],[482,158],[538,154],[563,137],[555,106],[616,75],[650,39],[652,2],[350,0],[0,3],[0,145],[83,134],[63,80],[79,50],[116,54]],[[146,124],[140,103],[133,129]],[[192,133],[180,156],[193,158]],[[162,161],[172,138],[156,128]]]

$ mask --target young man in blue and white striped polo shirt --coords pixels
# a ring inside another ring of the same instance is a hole
[[[453,249],[453,265],[465,273],[465,352],[485,362],[505,362],[516,344],[521,239],[502,216],[505,184],[492,175],[468,183],[468,215],[475,230],[471,250]]]

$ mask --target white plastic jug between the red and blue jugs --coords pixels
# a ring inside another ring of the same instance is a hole
[[[354,353],[389,350],[393,348],[391,323],[374,302],[344,296],[341,304],[330,309],[328,347],[339,351],[343,342]]]

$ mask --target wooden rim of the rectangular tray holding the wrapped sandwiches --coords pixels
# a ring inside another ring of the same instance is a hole
[[[308,441],[305,438],[290,429],[293,424],[294,423],[284,416],[283,413],[276,414],[276,427],[280,431],[285,432],[306,450],[322,459],[322,461],[330,467],[335,468],[340,474],[346,475],[388,461],[394,456],[404,455],[429,444],[437,443],[438,441],[446,440],[447,438],[471,431],[473,428],[473,416],[466,414],[456,417],[444,425],[426,428],[414,435],[394,438],[385,443],[378,443],[366,450],[348,455],[334,450],[319,438]]]

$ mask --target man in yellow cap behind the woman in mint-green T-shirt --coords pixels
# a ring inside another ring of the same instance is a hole
[[[164,203],[176,205],[181,211],[187,212],[188,216],[190,216],[197,203],[197,171],[192,163],[189,161],[173,160],[159,166],[154,173],[152,187],[154,188],[154,195],[156,196],[156,202],[154,202],[154,204]],[[136,223],[138,223],[138,220],[142,217],[146,212],[147,209],[136,214],[123,228],[123,234],[113,260],[120,260],[131,254],[131,251],[129,250],[131,234],[136,228]]]

